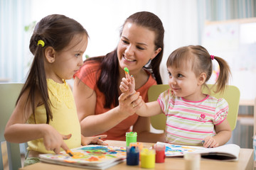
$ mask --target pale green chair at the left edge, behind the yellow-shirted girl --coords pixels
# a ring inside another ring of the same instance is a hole
[[[11,113],[14,111],[15,103],[22,87],[23,84],[0,84],[0,142],[6,141],[4,139],[4,129],[11,116]],[[9,169],[16,170],[21,168],[21,153],[19,144],[6,141],[6,147]],[[3,156],[6,157],[6,155],[2,155],[0,147],[0,169],[4,169]]]

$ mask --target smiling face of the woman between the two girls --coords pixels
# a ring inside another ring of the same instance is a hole
[[[127,67],[132,74],[141,71],[161,51],[161,48],[155,50],[154,40],[154,31],[127,22],[117,46],[119,66]]]

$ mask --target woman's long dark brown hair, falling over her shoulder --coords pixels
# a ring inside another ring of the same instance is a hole
[[[161,20],[154,13],[147,11],[134,13],[124,21],[120,35],[122,35],[122,30],[127,22],[136,23],[138,26],[154,31],[156,35],[154,40],[155,50],[161,47],[161,52],[149,64],[146,64],[144,68],[154,75],[157,84],[162,84],[159,66],[164,52],[164,27]],[[108,53],[105,57],[92,57],[89,60],[85,60],[85,62],[92,60],[101,63],[101,74],[97,81],[97,87],[105,95],[105,108],[110,108],[113,102],[114,106],[118,106],[119,61],[117,58],[117,49]]]

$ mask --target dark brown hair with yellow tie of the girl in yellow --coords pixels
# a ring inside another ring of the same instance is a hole
[[[43,100],[43,104],[46,107],[46,123],[49,123],[50,119],[53,120],[53,114],[50,111],[50,99],[48,96],[48,87],[46,82],[46,72],[44,69],[46,47],[53,47],[57,52],[60,52],[67,47],[75,35],[85,34],[88,36],[85,28],[80,23],[72,18],[68,18],[63,15],[53,14],[42,18],[36,24],[36,27],[31,36],[29,49],[34,55],[31,69],[28,72],[28,78],[21,90],[21,94],[18,96],[18,100],[21,98],[24,91],[28,90],[28,100],[31,101],[33,115],[35,116],[35,95],[38,91]],[[45,45],[38,45],[38,40],[43,40]],[[18,103],[18,100],[16,103]]]

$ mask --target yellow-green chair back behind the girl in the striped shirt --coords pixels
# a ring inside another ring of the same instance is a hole
[[[211,88],[213,84],[208,84],[208,86],[209,88]],[[151,86],[148,91],[149,101],[156,101],[157,98],[159,97],[159,94],[166,91],[167,89],[169,89],[168,84],[158,84]],[[203,93],[209,94],[206,88],[203,89]],[[230,124],[231,130],[234,130],[238,118],[238,108],[240,101],[240,90],[238,89],[238,87],[229,85],[227,89],[225,89],[225,92],[223,94],[214,94],[212,92],[211,96],[214,96],[215,98],[225,98],[225,100],[228,102],[228,123]],[[165,130],[166,115],[154,115],[151,116],[150,119],[153,128],[155,128],[156,130]]]

